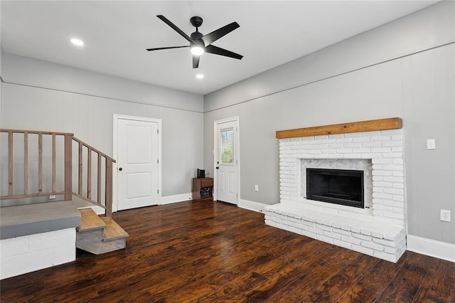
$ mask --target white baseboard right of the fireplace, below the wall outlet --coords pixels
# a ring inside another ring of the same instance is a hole
[[[455,262],[455,244],[407,235],[407,250]]]

